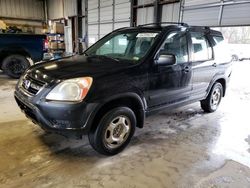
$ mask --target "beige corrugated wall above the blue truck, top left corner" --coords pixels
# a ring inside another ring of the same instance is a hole
[[[0,0],[0,19],[9,26],[18,26],[24,32],[42,32],[45,21],[41,0]]]

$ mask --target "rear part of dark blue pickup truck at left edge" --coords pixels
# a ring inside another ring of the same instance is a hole
[[[0,34],[0,69],[19,78],[33,62],[43,59],[46,35]]]

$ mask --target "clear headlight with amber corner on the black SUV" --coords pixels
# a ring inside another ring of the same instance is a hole
[[[81,101],[86,97],[92,82],[91,77],[65,80],[52,89],[46,99],[53,101]]]

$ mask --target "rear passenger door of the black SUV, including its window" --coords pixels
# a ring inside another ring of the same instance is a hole
[[[190,31],[192,60],[192,98],[206,95],[208,86],[216,74],[217,64],[213,58],[213,50],[209,36],[203,31]]]

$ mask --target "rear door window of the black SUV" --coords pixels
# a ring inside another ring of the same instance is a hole
[[[193,61],[206,61],[212,59],[212,48],[203,33],[192,33]]]

